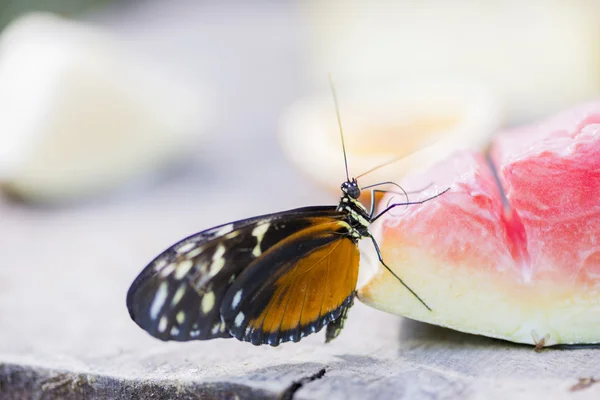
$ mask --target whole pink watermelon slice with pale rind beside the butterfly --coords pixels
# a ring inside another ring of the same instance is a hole
[[[600,102],[501,133],[490,149],[405,180],[451,189],[373,226],[386,263],[433,311],[380,267],[359,297],[515,342],[600,342]]]

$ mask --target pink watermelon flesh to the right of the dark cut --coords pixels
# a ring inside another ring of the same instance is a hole
[[[600,103],[499,136],[492,157],[533,279],[600,284]]]

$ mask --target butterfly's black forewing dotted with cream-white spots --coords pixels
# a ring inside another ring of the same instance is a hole
[[[231,337],[220,306],[238,275],[285,238],[341,219],[343,214],[335,207],[306,207],[221,225],[183,239],[135,279],[127,294],[129,314],[162,340]]]

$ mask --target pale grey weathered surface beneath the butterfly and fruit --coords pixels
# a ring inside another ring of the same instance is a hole
[[[305,90],[295,15],[289,5],[177,0],[94,16],[180,73],[202,71],[225,117],[197,158],[135,191],[53,208],[0,201],[0,397],[277,398],[325,368],[294,398],[599,398],[600,385],[569,390],[600,376],[598,349],[536,353],[361,304],[329,345],[322,333],[277,348],[163,343],[130,321],[129,284],[174,241],[220,222],[335,203],[286,163],[274,137],[281,108]]]

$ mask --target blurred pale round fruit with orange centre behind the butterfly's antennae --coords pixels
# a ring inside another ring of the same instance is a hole
[[[426,169],[457,149],[482,149],[503,121],[496,97],[474,82],[390,81],[336,92],[350,177],[403,157],[361,178],[361,186]],[[280,139],[296,166],[339,191],[344,159],[330,91],[290,106]]]

